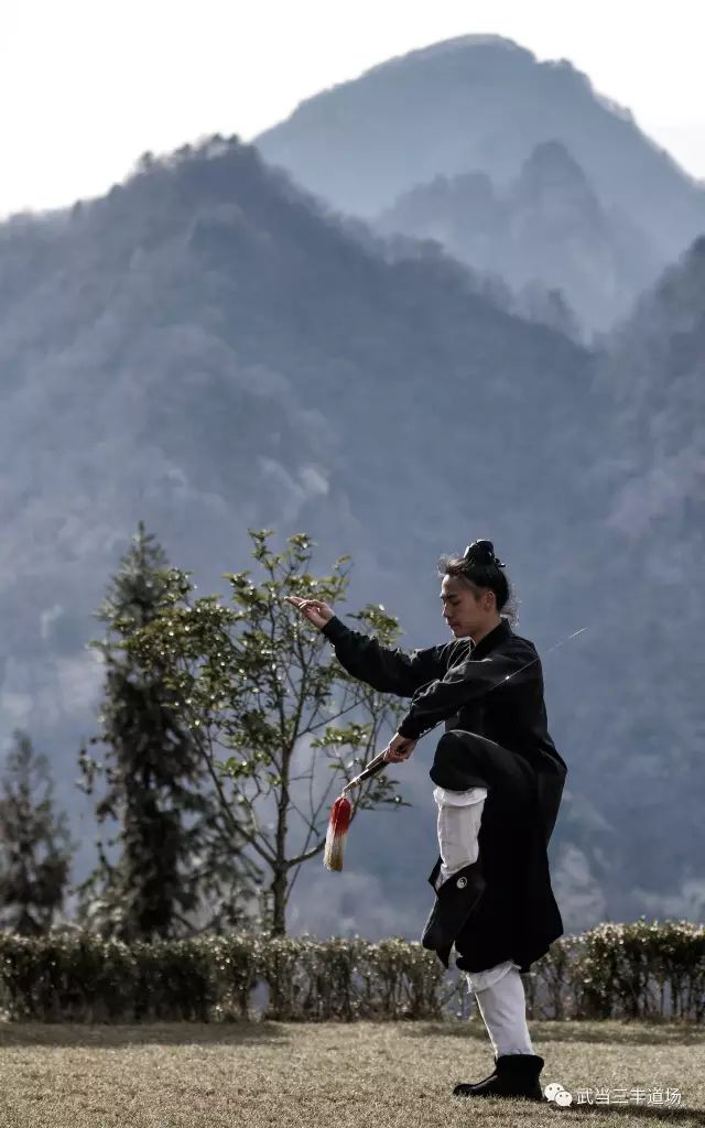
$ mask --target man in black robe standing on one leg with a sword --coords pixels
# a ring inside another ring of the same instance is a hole
[[[500,615],[509,585],[492,543],[475,541],[462,557],[444,559],[443,615],[456,637],[439,646],[411,654],[385,649],[326,605],[298,606],[325,608],[317,625],[349,673],[412,698],[387,748],[389,763],[408,758],[422,735],[444,723],[429,773],[440,856],[429,878],[435,902],[422,943],[444,967],[455,944],[495,1049],[495,1072],[453,1092],[543,1100],[544,1059],[532,1051],[520,973],[563,934],[547,847],[567,767],[548,734],[536,647]]]

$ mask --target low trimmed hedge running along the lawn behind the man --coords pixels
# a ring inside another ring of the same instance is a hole
[[[529,1019],[705,1016],[705,926],[606,924],[563,936],[523,977]],[[441,1019],[461,972],[393,938],[248,933],[130,946],[87,933],[0,934],[0,1007],[39,1022]]]

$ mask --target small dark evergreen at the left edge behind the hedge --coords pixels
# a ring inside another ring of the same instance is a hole
[[[12,737],[0,794],[0,927],[39,936],[63,906],[73,844],[54,813],[46,756],[21,730]]]

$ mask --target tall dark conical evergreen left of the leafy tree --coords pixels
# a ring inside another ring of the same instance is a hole
[[[107,748],[99,765],[80,751],[83,790],[92,795],[99,823],[112,819],[117,846],[109,861],[98,843],[99,864],[79,887],[79,918],[104,935],[126,942],[192,935],[240,924],[256,870],[233,852],[202,758],[183,717],[170,705],[168,661],[141,662],[122,640],[168,609],[162,579],[167,559],[142,521],[96,617],[105,641],[89,646],[106,670],[100,735]]]

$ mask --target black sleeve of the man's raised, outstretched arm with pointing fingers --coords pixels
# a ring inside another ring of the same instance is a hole
[[[390,650],[370,635],[353,631],[337,615],[321,627],[321,634],[333,643],[336,658],[349,673],[384,694],[411,697],[442,677],[448,668],[448,644],[411,653]]]

